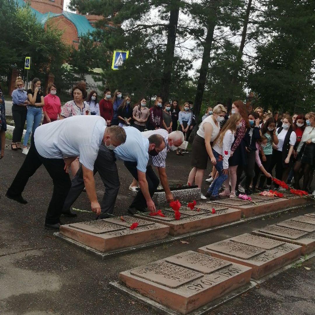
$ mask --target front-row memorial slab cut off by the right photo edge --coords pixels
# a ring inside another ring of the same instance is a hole
[[[301,254],[315,250],[315,216],[300,215],[252,232],[268,238],[301,245]]]

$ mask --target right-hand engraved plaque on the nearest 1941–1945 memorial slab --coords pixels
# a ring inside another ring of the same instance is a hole
[[[220,268],[232,265],[231,262],[193,251],[174,255],[166,258],[165,260],[202,273],[214,272]]]

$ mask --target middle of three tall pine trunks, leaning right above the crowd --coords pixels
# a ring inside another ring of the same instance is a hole
[[[207,36],[203,45],[203,55],[201,66],[199,70],[199,78],[197,84],[197,91],[194,103],[194,112],[196,115],[196,122],[198,122],[198,117],[201,109],[201,102],[203,98],[204,86],[206,84],[207,74],[209,70],[210,53],[213,42],[213,33],[215,30],[215,21],[209,21],[207,26]]]

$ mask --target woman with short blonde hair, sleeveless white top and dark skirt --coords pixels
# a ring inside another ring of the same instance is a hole
[[[224,120],[226,109],[219,104],[213,109],[213,114],[202,121],[192,142],[192,170],[188,176],[188,183],[201,188],[203,173],[207,169],[208,159],[215,165],[216,158],[212,152],[211,144],[220,131],[220,123]],[[207,199],[201,194],[201,199]]]

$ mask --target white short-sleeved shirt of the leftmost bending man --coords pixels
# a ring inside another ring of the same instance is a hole
[[[39,126],[34,133],[37,152],[42,157],[77,157],[93,170],[102,143],[106,121],[100,116],[73,116]]]

